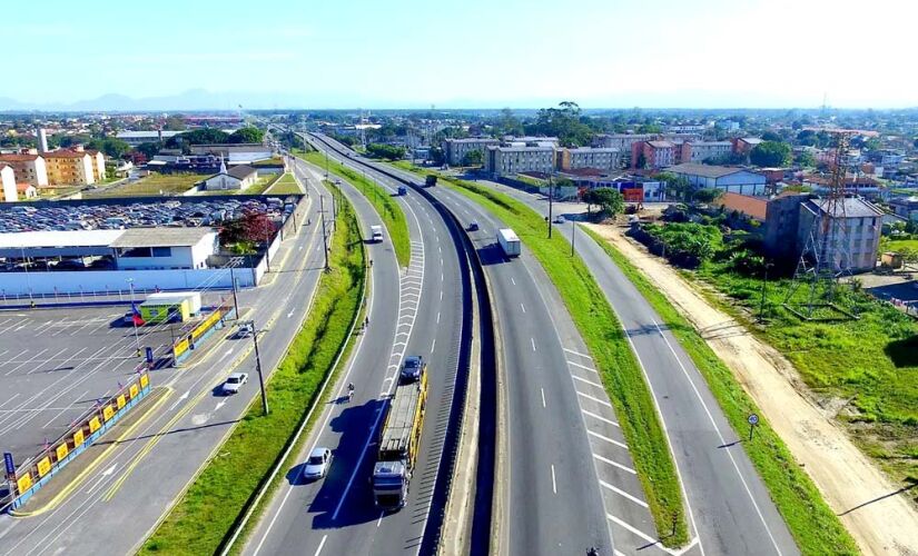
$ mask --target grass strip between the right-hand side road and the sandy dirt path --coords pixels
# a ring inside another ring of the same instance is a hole
[[[748,430],[746,419],[749,414],[761,416],[761,413],[730,369],[694,327],[621,251],[596,232],[582,229],[602,247],[679,339],[679,344],[704,375],[733,430],[743,436]],[[858,554],[851,536],[767,419],[759,420],[756,440],[743,443],[742,446],[803,554]]]

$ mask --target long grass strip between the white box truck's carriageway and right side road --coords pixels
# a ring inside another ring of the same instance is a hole
[[[426,175],[404,163],[398,168]],[[660,540],[670,547],[688,542],[684,503],[669,440],[640,365],[621,322],[571,244],[560,234],[549,239],[542,216],[521,201],[491,189],[440,175],[440,183],[477,202],[513,228],[557,288],[593,357],[615,406]]]

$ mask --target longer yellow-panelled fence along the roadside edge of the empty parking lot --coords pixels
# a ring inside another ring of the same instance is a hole
[[[67,464],[111,428],[150,391],[150,377],[140,371],[136,379],[121,387],[113,396],[78,418],[72,427],[26,464],[7,474],[12,493],[12,508],[22,506],[39,488]]]

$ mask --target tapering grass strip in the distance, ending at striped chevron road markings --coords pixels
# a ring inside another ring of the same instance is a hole
[[[325,168],[325,157],[317,151],[303,152],[294,149],[294,153],[312,162],[319,168]],[[335,176],[346,179],[354,187],[359,189],[364,197],[376,208],[379,217],[386,224],[386,229],[392,237],[392,245],[395,248],[395,258],[398,265],[407,267],[411,264],[411,238],[408,236],[408,221],[405,219],[405,214],[402,207],[392,198],[392,193],[385,188],[377,186],[375,181],[366,178],[351,168],[328,159],[328,171]]]

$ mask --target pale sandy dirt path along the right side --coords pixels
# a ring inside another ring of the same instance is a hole
[[[701,332],[803,464],[829,506],[841,515],[865,554],[918,555],[918,512],[900,496],[884,498],[899,487],[806,397],[790,361],[713,308],[669,265],[618,228],[590,228],[618,247]]]

